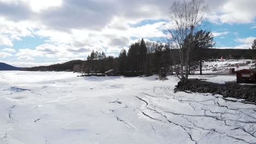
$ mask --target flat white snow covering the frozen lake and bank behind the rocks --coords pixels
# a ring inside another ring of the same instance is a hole
[[[0,71],[0,143],[256,142],[255,105],[174,93],[168,78]]]

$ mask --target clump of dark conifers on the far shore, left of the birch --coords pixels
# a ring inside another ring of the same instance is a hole
[[[131,44],[128,51],[121,50],[117,58],[106,57],[104,52],[92,51],[82,65],[74,65],[74,71],[82,71],[84,75],[104,75],[105,71],[114,69],[119,75],[124,76],[155,73],[161,73],[161,76],[164,76],[172,65],[171,58],[169,46],[152,43],[147,47],[142,39]]]

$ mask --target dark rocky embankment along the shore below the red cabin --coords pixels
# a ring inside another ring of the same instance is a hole
[[[224,98],[245,99],[249,103],[256,104],[256,85],[218,84],[199,79],[190,79],[183,85],[178,83],[175,91],[220,94]]]

